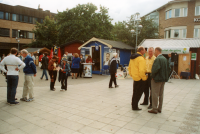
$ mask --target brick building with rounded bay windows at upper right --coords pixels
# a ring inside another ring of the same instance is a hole
[[[200,38],[200,0],[174,0],[145,15],[169,38]]]

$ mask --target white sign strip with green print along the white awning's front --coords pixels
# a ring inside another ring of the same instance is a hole
[[[177,54],[188,54],[190,48],[189,47],[161,47],[162,54],[170,54],[170,53],[177,53]]]

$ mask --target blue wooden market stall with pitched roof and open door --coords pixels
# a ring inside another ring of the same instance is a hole
[[[105,66],[110,66],[113,53],[118,54],[117,61],[120,65],[127,66],[131,50],[134,48],[119,41],[92,38],[78,49],[81,51],[83,58],[87,59],[89,55],[92,57],[92,73],[102,74]]]

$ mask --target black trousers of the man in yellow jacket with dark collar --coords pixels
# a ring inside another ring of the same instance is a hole
[[[138,108],[138,102],[142,96],[142,93],[145,89],[146,81],[134,81],[133,83],[133,96],[132,96],[132,108]]]

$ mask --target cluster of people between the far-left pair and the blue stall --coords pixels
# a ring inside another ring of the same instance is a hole
[[[43,76],[46,76],[46,69],[49,71],[49,75],[51,78],[50,82],[50,90],[55,91],[55,82],[57,78],[57,72],[59,71],[59,81],[61,81],[61,91],[67,91],[67,79],[68,76],[72,75],[72,79],[77,79],[78,77],[82,77],[83,74],[83,63],[85,63],[85,59],[83,58],[83,55],[81,54],[79,56],[78,53],[74,53],[72,59],[69,59],[68,52],[65,52],[63,55],[60,65],[58,64],[59,58],[54,55],[53,58],[49,61],[47,65],[48,58],[45,56],[42,58],[42,69],[43,69]],[[71,63],[70,63],[71,61]],[[86,63],[91,63],[92,58],[89,55],[86,59]],[[71,64],[71,67],[70,67]],[[48,77],[46,76],[46,80],[48,80]]]

